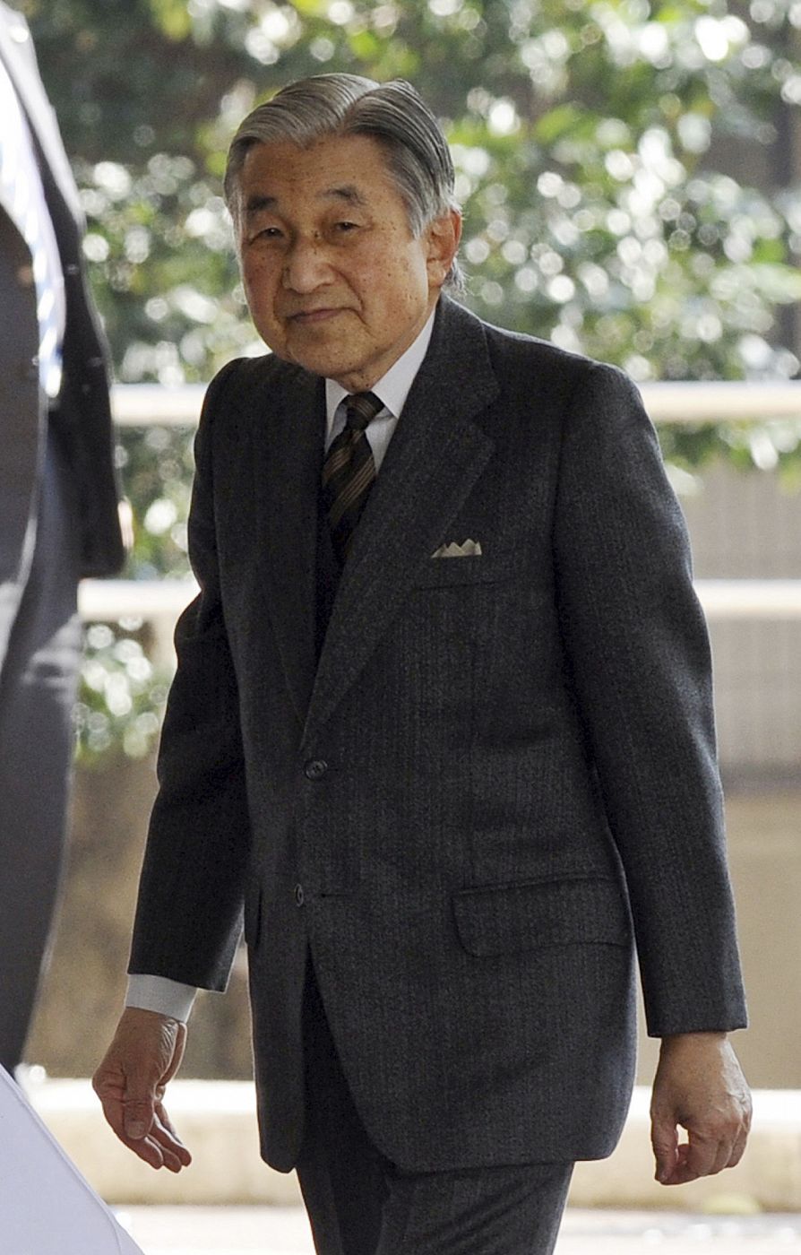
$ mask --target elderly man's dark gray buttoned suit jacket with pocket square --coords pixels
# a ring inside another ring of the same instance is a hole
[[[221,988],[244,900],[262,1147],[307,948],[409,1168],[607,1155],[653,1034],[745,1012],[709,653],[634,387],[442,299],[315,669],[322,382],[212,383],[132,970]],[[432,557],[455,541],[480,556]]]

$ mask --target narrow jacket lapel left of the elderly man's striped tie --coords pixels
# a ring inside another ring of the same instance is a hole
[[[256,562],[263,570],[278,653],[301,727],[315,679],[317,493],[325,384],[298,370],[275,375],[247,402],[253,429]]]

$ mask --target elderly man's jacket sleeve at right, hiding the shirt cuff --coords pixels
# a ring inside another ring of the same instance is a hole
[[[626,875],[648,1032],[741,1028],[708,638],[656,434],[610,366],[590,368],[573,397],[554,553],[569,681]]]

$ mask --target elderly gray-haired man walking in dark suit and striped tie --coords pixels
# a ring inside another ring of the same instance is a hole
[[[164,1086],[244,907],[262,1152],[317,1250],[548,1252],[626,1117],[636,953],[658,1178],[747,1135],[682,517],[619,371],[448,295],[453,167],[407,84],[292,84],[226,186],[272,354],[203,409],[201,592],[95,1087],[188,1163]]]

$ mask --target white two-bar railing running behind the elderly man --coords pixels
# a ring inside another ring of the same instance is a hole
[[[204,390],[202,384],[118,384],[114,418],[120,427],[192,427]],[[656,423],[801,419],[801,382],[652,383],[642,393]],[[698,580],[696,587],[709,620],[801,620],[801,580]],[[148,620],[157,653],[167,659],[172,626],[194,592],[192,580],[84,580],[79,606],[88,621]]]

